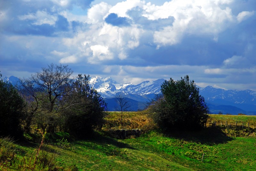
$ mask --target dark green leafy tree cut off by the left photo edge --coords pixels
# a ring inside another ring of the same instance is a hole
[[[20,122],[24,117],[25,101],[10,82],[4,82],[0,74],[0,136],[22,135]]]

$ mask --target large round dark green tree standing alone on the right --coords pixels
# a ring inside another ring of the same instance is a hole
[[[208,107],[204,97],[199,95],[199,88],[194,80],[189,81],[188,75],[181,80],[164,81],[161,95],[150,103],[153,118],[160,128],[199,129],[204,126],[208,117]]]

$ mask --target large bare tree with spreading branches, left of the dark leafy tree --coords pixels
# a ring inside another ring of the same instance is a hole
[[[72,90],[73,80],[70,79],[72,74],[73,71],[68,65],[50,64],[40,72],[31,74],[30,78],[20,81],[20,90],[31,107],[28,127],[36,113],[59,113],[72,105],[66,103],[66,97]],[[52,114],[49,116],[44,114],[50,124],[54,120]]]

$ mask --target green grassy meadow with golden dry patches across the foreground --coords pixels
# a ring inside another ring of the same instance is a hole
[[[48,167],[34,170],[255,170],[256,116],[209,116],[201,131],[162,133],[145,111],[125,112],[123,126],[120,113],[111,112],[93,136],[77,140],[67,133],[46,134],[39,157]],[[141,129],[142,134],[116,139],[109,133],[113,129]],[[25,143],[6,140],[1,145],[0,154],[15,149],[14,159],[1,163],[2,170],[28,170],[30,159],[33,165],[32,153],[42,136],[26,138]]]

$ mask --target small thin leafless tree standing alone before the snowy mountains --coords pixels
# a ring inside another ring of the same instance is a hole
[[[131,105],[129,104],[129,101],[127,98],[124,97],[124,93],[116,93],[115,95],[115,102],[116,102],[116,111],[121,112],[121,125],[123,126],[123,112],[127,111]]]

